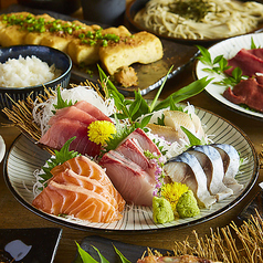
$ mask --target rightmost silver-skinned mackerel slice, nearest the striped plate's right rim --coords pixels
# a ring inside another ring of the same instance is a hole
[[[243,189],[243,185],[240,185],[235,180],[235,176],[240,167],[240,156],[236,149],[232,145],[227,144],[213,144],[211,146],[215,147],[215,149],[219,150],[219,154],[221,155],[221,158],[223,160],[223,182],[225,183],[225,186],[233,189],[234,192]]]

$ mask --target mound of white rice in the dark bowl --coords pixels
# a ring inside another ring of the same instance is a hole
[[[22,55],[0,63],[0,86],[27,87],[44,84],[55,78],[54,66],[41,61],[35,55]]]

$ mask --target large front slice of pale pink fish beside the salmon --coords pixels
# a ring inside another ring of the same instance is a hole
[[[106,152],[99,165],[126,202],[135,206],[152,206],[155,180],[138,165],[115,150]]]

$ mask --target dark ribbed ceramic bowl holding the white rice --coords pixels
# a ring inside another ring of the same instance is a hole
[[[44,87],[55,90],[57,85],[66,88],[70,83],[72,60],[71,57],[52,48],[43,45],[14,45],[0,49],[0,63],[4,63],[8,59],[19,59],[35,55],[49,66],[54,65],[61,72],[61,75],[53,81],[27,87],[0,87],[0,109],[12,108],[12,101],[25,101],[30,95],[35,99],[38,95],[44,95]]]

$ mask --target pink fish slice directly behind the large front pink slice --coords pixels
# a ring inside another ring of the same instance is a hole
[[[155,178],[156,166],[145,156],[144,150],[139,146],[137,139],[126,139],[120,146],[116,148],[116,151],[123,154],[125,157],[140,166],[143,170],[149,173],[149,176]]]

